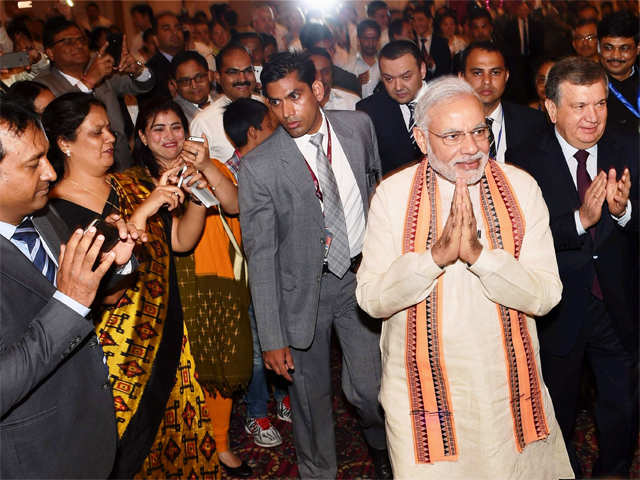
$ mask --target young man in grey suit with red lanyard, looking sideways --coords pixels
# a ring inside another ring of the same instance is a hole
[[[275,55],[261,81],[281,126],[242,160],[240,223],[263,359],[291,382],[298,471],[336,476],[335,328],[343,391],[360,415],[376,478],[390,478],[377,400],[379,334],[355,299],[369,197],[380,178],[373,125],[359,112],[320,108],[323,87],[307,55]]]

